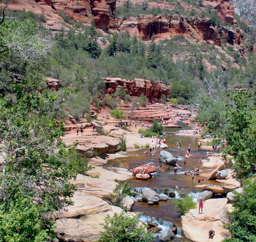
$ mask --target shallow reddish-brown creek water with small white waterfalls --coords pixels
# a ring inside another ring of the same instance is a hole
[[[182,122],[178,122],[178,125],[184,129],[186,124]],[[148,206],[147,203],[139,202],[135,203],[133,206],[133,211],[138,212],[140,215],[140,219],[143,222],[147,220],[157,222],[159,227],[167,228],[178,226],[178,236],[175,236],[174,241],[177,242],[189,242],[190,240],[181,237],[180,235],[184,234],[180,230],[181,227],[181,218],[180,214],[177,213],[175,205],[173,203],[173,199],[180,198],[189,194],[193,197],[194,201],[197,201],[198,192],[193,188],[195,185],[198,184],[197,180],[202,178],[199,176],[195,176],[194,181],[191,181],[191,177],[187,177],[184,173],[186,171],[193,171],[195,168],[201,168],[201,163],[199,163],[199,159],[205,159],[206,151],[205,150],[197,150],[197,142],[198,137],[187,137],[187,136],[179,136],[175,135],[177,130],[181,128],[165,128],[164,132],[166,132],[166,144],[168,145],[169,149],[165,149],[173,154],[174,157],[178,157],[177,165],[178,165],[178,172],[177,175],[174,176],[173,173],[173,166],[169,166],[169,171],[165,173],[155,172],[153,173],[154,178],[149,180],[137,180],[135,177],[130,178],[128,181],[134,183],[134,188],[138,191],[142,189],[153,189],[158,194],[165,193],[171,199],[168,201],[160,201],[159,205]],[[177,149],[174,146],[174,141],[181,141],[181,148]],[[185,158],[185,154],[188,150],[188,145],[191,144],[191,156]],[[137,166],[142,166],[145,164],[155,165],[157,168],[160,166],[159,162],[159,152],[160,149],[156,149],[154,157],[151,157],[149,154],[144,155],[144,151],[148,151],[148,149],[139,149],[135,151],[127,152],[127,157],[117,158],[115,160],[109,161],[106,166],[110,167],[123,167],[128,169],[133,169]],[[183,162],[186,160],[187,165],[184,165]],[[165,166],[165,168],[167,165]],[[212,169],[202,169],[201,173],[208,173]],[[203,178],[203,184],[213,184],[218,185],[215,181],[208,181],[207,178]],[[156,240],[158,241],[158,240]]]

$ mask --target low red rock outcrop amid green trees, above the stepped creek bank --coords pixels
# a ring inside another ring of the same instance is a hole
[[[130,96],[139,97],[141,94],[148,98],[160,98],[162,94],[167,96],[169,87],[162,84],[161,81],[151,82],[143,78],[134,78],[129,81],[121,78],[105,78],[106,93],[116,92],[120,87]]]

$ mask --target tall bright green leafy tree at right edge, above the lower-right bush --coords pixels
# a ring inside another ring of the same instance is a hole
[[[223,151],[234,157],[233,169],[238,177],[246,177],[256,160],[255,107],[251,105],[251,93],[240,90],[227,93],[227,97],[230,99],[225,109],[227,125],[220,134],[227,141]]]

